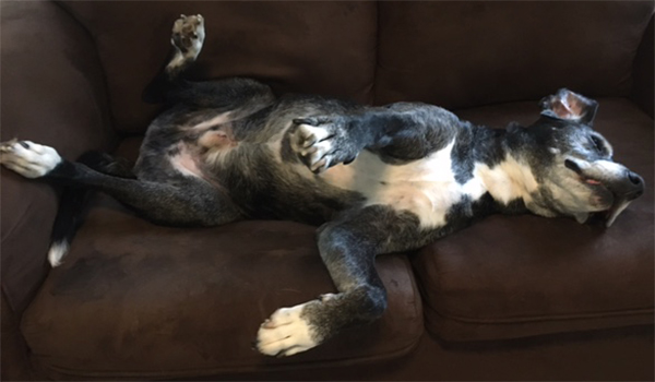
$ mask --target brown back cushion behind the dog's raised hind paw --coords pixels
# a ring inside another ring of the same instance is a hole
[[[63,1],[92,34],[116,127],[141,132],[157,108],[141,93],[170,49],[180,13],[202,14],[199,79],[252,76],[277,92],[372,100],[373,2]]]

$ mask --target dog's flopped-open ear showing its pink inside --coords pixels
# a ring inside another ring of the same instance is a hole
[[[545,97],[539,102],[539,106],[543,116],[577,121],[588,126],[593,124],[598,109],[597,102],[567,88],[560,88],[557,94]]]

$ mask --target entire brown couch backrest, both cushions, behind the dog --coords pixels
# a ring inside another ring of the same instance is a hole
[[[277,92],[462,108],[538,99],[559,87],[624,96],[653,2],[71,1],[104,65],[119,130],[158,108],[141,92],[172,21],[201,13],[193,76],[252,76]],[[374,84],[374,85],[373,85]],[[374,92],[373,92],[374,87]]]

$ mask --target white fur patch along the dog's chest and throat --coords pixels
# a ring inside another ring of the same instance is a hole
[[[449,211],[464,201],[475,202],[487,192],[499,203],[516,199],[526,202],[538,183],[529,167],[508,155],[489,167],[476,163],[473,178],[465,183],[455,179],[451,142],[441,151],[406,165],[383,163],[377,155],[362,152],[350,165],[338,165],[321,178],[327,183],[357,191],[367,199],[366,205],[384,204],[416,216],[421,228],[444,226]]]

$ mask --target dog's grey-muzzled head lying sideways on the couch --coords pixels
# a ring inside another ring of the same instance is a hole
[[[603,214],[609,227],[634,199],[644,180],[612,159],[609,142],[592,126],[598,104],[568,89],[540,102],[539,119],[523,130],[517,146],[539,186],[527,208],[538,215],[573,216],[584,223]]]

